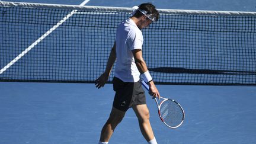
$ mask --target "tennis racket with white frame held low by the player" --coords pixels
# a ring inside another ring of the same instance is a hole
[[[142,85],[149,91],[148,84],[146,84],[146,82],[143,80]],[[185,118],[185,113],[181,105],[168,98],[160,97],[160,100],[162,100],[160,103],[158,103],[158,100],[156,100],[157,98],[154,97],[154,99],[158,105],[159,117],[164,124],[172,129],[181,126]]]

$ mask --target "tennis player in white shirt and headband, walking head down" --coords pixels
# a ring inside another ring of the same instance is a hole
[[[140,131],[148,143],[157,143],[149,122],[149,110],[145,92],[140,84],[140,76],[149,85],[149,94],[159,97],[158,89],[142,57],[142,29],[153,21],[158,21],[159,13],[155,6],[146,3],[139,5],[130,18],[120,23],[116,32],[116,42],[108,57],[105,72],[95,80],[97,88],[104,87],[111,69],[114,70],[113,89],[116,92],[110,116],[101,130],[100,142],[108,143],[117,124],[126,111],[132,107],[139,120]],[[120,143],[122,143],[120,141]]]

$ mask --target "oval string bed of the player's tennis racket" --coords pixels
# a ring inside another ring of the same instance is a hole
[[[172,100],[164,101],[164,103],[161,104],[160,113],[164,122],[171,127],[180,125],[184,119],[183,110],[180,105]]]

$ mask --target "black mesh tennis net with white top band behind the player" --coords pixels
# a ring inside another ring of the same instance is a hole
[[[0,2],[0,81],[94,82],[132,11]],[[142,30],[157,84],[256,85],[256,12],[159,12]]]

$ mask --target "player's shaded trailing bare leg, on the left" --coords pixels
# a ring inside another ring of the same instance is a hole
[[[100,142],[108,142],[110,140],[114,129],[116,128],[117,124],[121,122],[125,113],[125,111],[117,110],[114,107],[112,108],[110,117],[101,130]]]

